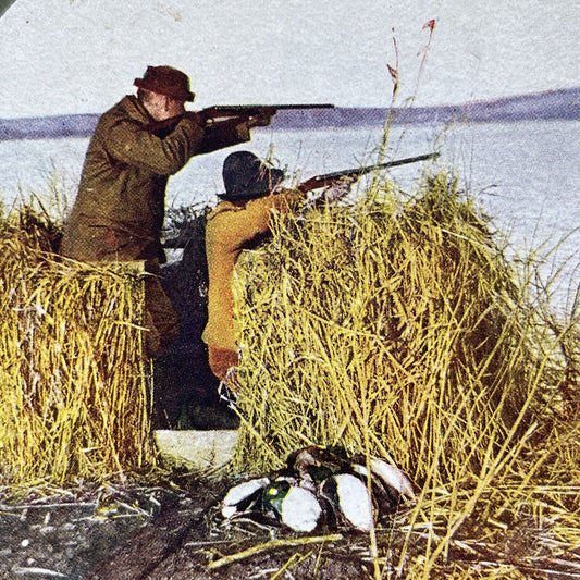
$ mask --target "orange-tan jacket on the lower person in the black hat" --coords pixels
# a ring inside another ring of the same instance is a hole
[[[296,190],[285,189],[245,203],[222,201],[209,213],[206,226],[208,324],[202,336],[208,345],[237,349],[233,273],[239,252],[269,231],[273,211],[285,213],[303,197]]]

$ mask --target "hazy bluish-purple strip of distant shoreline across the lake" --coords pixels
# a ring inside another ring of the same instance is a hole
[[[395,108],[391,113],[394,124],[576,121],[580,120],[580,87],[458,106]],[[282,110],[275,115],[271,128],[380,127],[387,114],[387,108],[373,107]],[[0,141],[89,137],[98,120],[99,114],[0,119]]]

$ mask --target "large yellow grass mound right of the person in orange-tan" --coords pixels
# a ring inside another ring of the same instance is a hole
[[[412,198],[378,185],[274,230],[237,269],[234,469],[268,472],[309,444],[391,457],[421,490],[392,554],[411,578],[521,521],[556,542],[546,554],[578,548],[578,335],[548,323],[533,263],[506,260],[455,181]],[[521,577],[508,568],[480,577]]]

